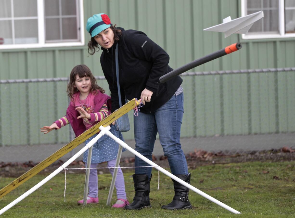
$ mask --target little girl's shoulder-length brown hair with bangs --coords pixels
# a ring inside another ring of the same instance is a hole
[[[96,79],[92,75],[89,67],[87,67],[84,64],[80,64],[75,66],[70,74],[70,82],[68,83],[67,93],[68,93],[68,96],[71,98],[71,100],[73,99],[74,94],[78,92],[78,89],[74,87],[75,81],[76,81],[76,75],[78,75],[80,78],[83,78],[83,77],[90,78],[90,81],[91,81],[90,92],[97,93],[97,90],[101,91],[101,93],[105,92],[103,88],[97,85]]]

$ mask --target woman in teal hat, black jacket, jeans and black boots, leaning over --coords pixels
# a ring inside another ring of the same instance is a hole
[[[86,25],[91,35],[88,52],[93,55],[101,46],[101,67],[109,83],[112,100],[112,112],[119,108],[117,89],[115,49],[118,44],[119,85],[122,102],[127,99],[142,98],[144,106],[138,116],[134,116],[135,150],[152,160],[152,152],[157,133],[167,156],[171,172],[190,183],[187,163],[180,144],[180,129],[183,117],[182,79],[177,76],[161,84],[159,78],[172,71],[168,54],[145,33],[136,30],[124,30],[111,24],[106,14],[95,14]],[[149,166],[135,156],[135,166]],[[142,209],[151,207],[150,180],[151,167],[135,168],[133,175],[135,197],[124,209]],[[174,183],[175,196],[163,209],[192,208],[189,189],[180,183]]]

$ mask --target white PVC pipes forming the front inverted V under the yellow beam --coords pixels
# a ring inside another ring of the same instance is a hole
[[[211,196],[207,195],[206,193],[202,192],[201,190],[195,188],[194,186],[184,182],[183,180],[181,180],[180,178],[176,177],[175,175],[173,175],[172,173],[168,172],[167,170],[163,169],[162,167],[158,166],[157,164],[155,164],[154,162],[150,161],[149,159],[147,159],[145,156],[143,156],[142,154],[138,153],[137,151],[135,151],[133,148],[130,148],[126,143],[124,143],[122,140],[120,140],[119,138],[117,138],[116,136],[114,136],[109,130],[110,127],[103,127],[100,126],[99,129],[101,130],[101,132],[95,137],[93,138],[84,148],[82,148],[77,154],[75,154],[71,159],[69,159],[67,162],[65,162],[62,166],[60,166],[58,169],[56,169],[53,173],[51,173],[49,176],[47,176],[44,180],[42,180],[40,183],[38,183],[37,185],[35,185],[33,188],[31,188],[30,190],[28,190],[26,193],[24,193],[23,195],[19,196],[17,199],[15,199],[14,201],[12,201],[10,204],[8,204],[7,206],[5,206],[4,208],[2,208],[0,210],[0,215],[2,213],[4,213],[5,211],[7,211],[8,209],[10,209],[12,206],[14,206],[15,204],[17,204],[19,201],[21,201],[22,199],[24,199],[25,197],[29,196],[32,192],[34,192],[35,190],[37,190],[38,188],[40,188],[42,185],[44,185],[47,181],[49,181],[50,179],[52,179],[55,175],[57,175],[60,171],[62,171],[65,167],[67,167],[70,163],[72,163],[78,156],[80,156],[81,154],[83,154],[84,151],[86,151],[87,149],[89,149],[91,146],[94,145],[94,143],[96,143],[96,141],[103,136],[104,134],[108,135],[110,138],[114,139],[114,141],[116,141],[120,146],[122,146],[123,148],[126,148],[126,150],[130,151],[132,154],[134,154],[135,156],[139,157],[140,159],[142,159],[143,161],[145,161],[146,163],[150,164],[150,166],[152,167],[157,167],[157,169],[164,173],[165,175],[169,176],[171,179],[175,180],[176,182],[180,183],[181,185],[186,186],[187,188],[191,189],[192,191],[198,193],[199,195],[203,196],[204,198],[207,198],[208,200],[212,201],[213,203],[223,207],[224,209],[227,209],[228,211],[234,213],[234,214],[241,214],[239,211],[231,208],[230,206],[227,206],[226,204],[218,201],[215,198],[212,198]]]

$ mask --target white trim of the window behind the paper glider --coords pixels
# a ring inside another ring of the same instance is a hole
[[[285,17],[281,14],[285,14],[285,1],[279,1],[279,33],[259,33],[259,34],[242,34],[242,39],[266,39],[266,38],[292,38],[295,37],[295,33],[285,34]],[[246,16],[246,4],[247,0],[241,0],[241,15]],[[263,18],[262,18],[263,19]]]

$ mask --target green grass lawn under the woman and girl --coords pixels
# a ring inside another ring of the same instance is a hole
[[[134,196],[132,172],[124,170],[127,197]],[[169,177],[153,169],[150,200],[152,207],[139,211],[127,211],[106,206],[111,174],[99,175],[99,204],[82,208],[76,204],[83,198],[84,174],[67,172],[66,202],[64,202],[64,173],[45,183],[34,193],[0,215],[2,217],[295,217],[295,162],[245,162],[215,164],[190,170],[191,185],[240,211],[233,214],[206,198],[190,191],[191,210],[167,211],[161,205],[168,204],[174,194]],[[45,178],[36,175],[26,183],[0,198],[0,209]],[[0,188],[15,178],[0,177]],[[116,201],[116,191],[112,203]]]

